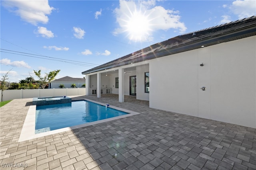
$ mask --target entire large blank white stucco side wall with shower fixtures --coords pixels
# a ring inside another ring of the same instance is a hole
[[[150,107],[256,128],[255,47],[253,36],[150,60]]]

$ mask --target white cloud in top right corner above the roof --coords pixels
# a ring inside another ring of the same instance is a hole
[[[238,19],[247,18],[256,15],[256,1],[255,0],[236,0],[232,2],[230,10],[233,14],[238,16]]]

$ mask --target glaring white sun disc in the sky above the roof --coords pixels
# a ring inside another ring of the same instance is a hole
[[[150,20],[148,16],[135,11],[126,21],[126,32],[133,41],[144,41],[148,38],[150,32]]]

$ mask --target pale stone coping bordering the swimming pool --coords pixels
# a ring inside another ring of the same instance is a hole
[[[86,100],[88,102],[93,102],[93,103],[96,103],[96,104],[100,104],[102,106],[106,105],[104,103],[96,102],[94,100],[89,100],[89,99],[77,99],[77,100],[72,100],[72,101],[78,101],[78,100]],[[111,117],[111,118],[108,118],[108,119],[98,120],[98,121],[94,121],[94,122],[84,123],[84,124],[81,124],[81,125],[75,125],[75,126],[72,126],[72,127],[64,127],[64,128],[56,129],[56,130],[53,130],[53,131],[48,131],[48,132],[35,134],[35,131],[31,130],[31,129],[35,129],[35,126],[36,126],[35,125],[36,124],[36,105],[31,105],[28,109],[26,119],[23,123],[23,127],[22,127],[22,130],[21,130],[20,138],[19,138],[18,142],[27,141],[27,140],[35,139],[35,138],[38,138],[38,137],[44,137],[44,136],[52,135],[52,134],[55,134],[55,133],[70,131],[70,130],[78,129],[78,128],[81,128],[81,127],[96,125],[96,124],[99,124],[99,123],[104,123],[104,122],[107,122],[107,121],[112,121],[112,120],[121,119],[121,118],[124,118],[124,117],[129,117],[129,116],[132,116],[132,115],[140,114],[138,112],[131,111],[131,110],[128,110],[128,109],[123,109],[123,108],[116,107],[116,106],[108,106],[108,107],[110,107],[112,109],[117,109],[117,110],[120,110],[120,111],[124,111],[128,114],[120,115],[120,116],[116,116],[116,117]]]

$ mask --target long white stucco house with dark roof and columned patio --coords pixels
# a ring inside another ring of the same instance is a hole
[[[256,128],[256,16],[186,33],[82,72],[149,107]],[[108,75],[108,76],[106,76]],[[190,119],[190,118],[189,118]],[[214,125],[213,125],[214,128]]]

